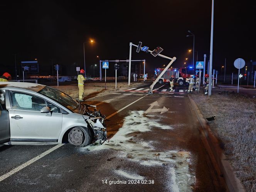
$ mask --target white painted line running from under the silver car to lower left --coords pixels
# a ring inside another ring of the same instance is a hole
[[[4,179],[6,179],[7,177],[10,177],[11,175],[13,175],[14,173],[17,173],[18,171],[22,170],[23,168],[27,167],[28,165],[36,162],[37,160],[39,160],[40,158],[44,157],[45,155],[48,155],[49,153],[53,152],[54,150],[56,150],[57,148],[61,147],[64,144],[59,144],[56,145],[54,147],[52,147],[51,149],[45,151],[44,153],[41,153],[40,155],[37,155],[37,157],[34,157],[32,159],[30,159],[29,161],[23,163],[22,165],[20,165],[19,167],[16,167],[15,169],[11,170],[8,173],[5,173],[4,175],[0,176],[0,182]]]

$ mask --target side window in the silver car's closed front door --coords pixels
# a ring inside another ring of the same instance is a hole
[[[11,92],[12,109],[40,111],[46,106],[45,100],[34,95]]]

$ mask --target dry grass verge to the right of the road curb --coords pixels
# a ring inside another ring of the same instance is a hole
[[[193,95],[246,191],[256,191],[256,99],[239,94]]]

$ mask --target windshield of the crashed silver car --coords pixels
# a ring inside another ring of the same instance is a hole
[[[74,113],[78,112],[78,106],[79,104],[70,96],[68,96],[65,93],[62,93],[61,91],[46,86],[42,90],[40,90],[38,93],[51,98],[52,100],[56,101],[57,103],[61,104],[62,106],[70,109]]]

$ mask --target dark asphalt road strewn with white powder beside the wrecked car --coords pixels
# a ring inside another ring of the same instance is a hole
[[[161,86],[88,97],[107,116],[109,143],[62,145],[2,180],[0,191],[224,191],[189,98]],[[0,147],[0,175],[52,147]]]

